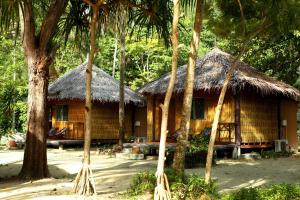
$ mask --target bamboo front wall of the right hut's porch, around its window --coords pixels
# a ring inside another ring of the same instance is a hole
[[[192,133],[199,134],[204,128],[210,128],[212,125],[215,107],[217,105],[218,96],[213,94],[195,93],[194,97],[204,98],[205,104],[205,118],[198,120],[191,120]],[[148,141],[158,141],[160,137],[161,125],[161,109],[159,105],[163,103],[162,96],[148,96],[147,97],[147,138]],[[172,98],[169,108],[168,130],[169,136],[174,134],[180,128],[181,112],[182,112],[182,95],[177,95]],[[223,123],[234,123],[234,98],[232,95],[225,97],[223,105],[221,120]],[[153,138],[154,133],[154,138]],[[234,133],[232,134],[234,140]],[[228,133],[221,132],[221,139],[228,137]]]

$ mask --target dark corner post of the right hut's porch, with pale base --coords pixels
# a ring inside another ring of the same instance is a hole
[[[235,113],[235,144],[232,157],[238,159],[241,154],[241,97],[237,89],[234,96],[234,113]]]

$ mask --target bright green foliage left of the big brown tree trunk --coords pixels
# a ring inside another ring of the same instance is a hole
[[[12,131],[13,113],[17,131],[25,130],[27,69],[20,46],[9,34],[0,36],[0,134]]]

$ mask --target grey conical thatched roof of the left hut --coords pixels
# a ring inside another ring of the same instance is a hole
[[[54,81],[48,89],[49,100],[85,100],[85,68],[83,63]],[[119,81],[93,66],[92,100],[119,102]],[[125,103],[141,103],[142,98],[125,87]]]

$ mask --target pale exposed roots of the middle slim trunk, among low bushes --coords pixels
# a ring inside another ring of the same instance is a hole
[[[168,178],[165,173],[157,174],[157,186],[154,191],[154,200],[171,200]]]

